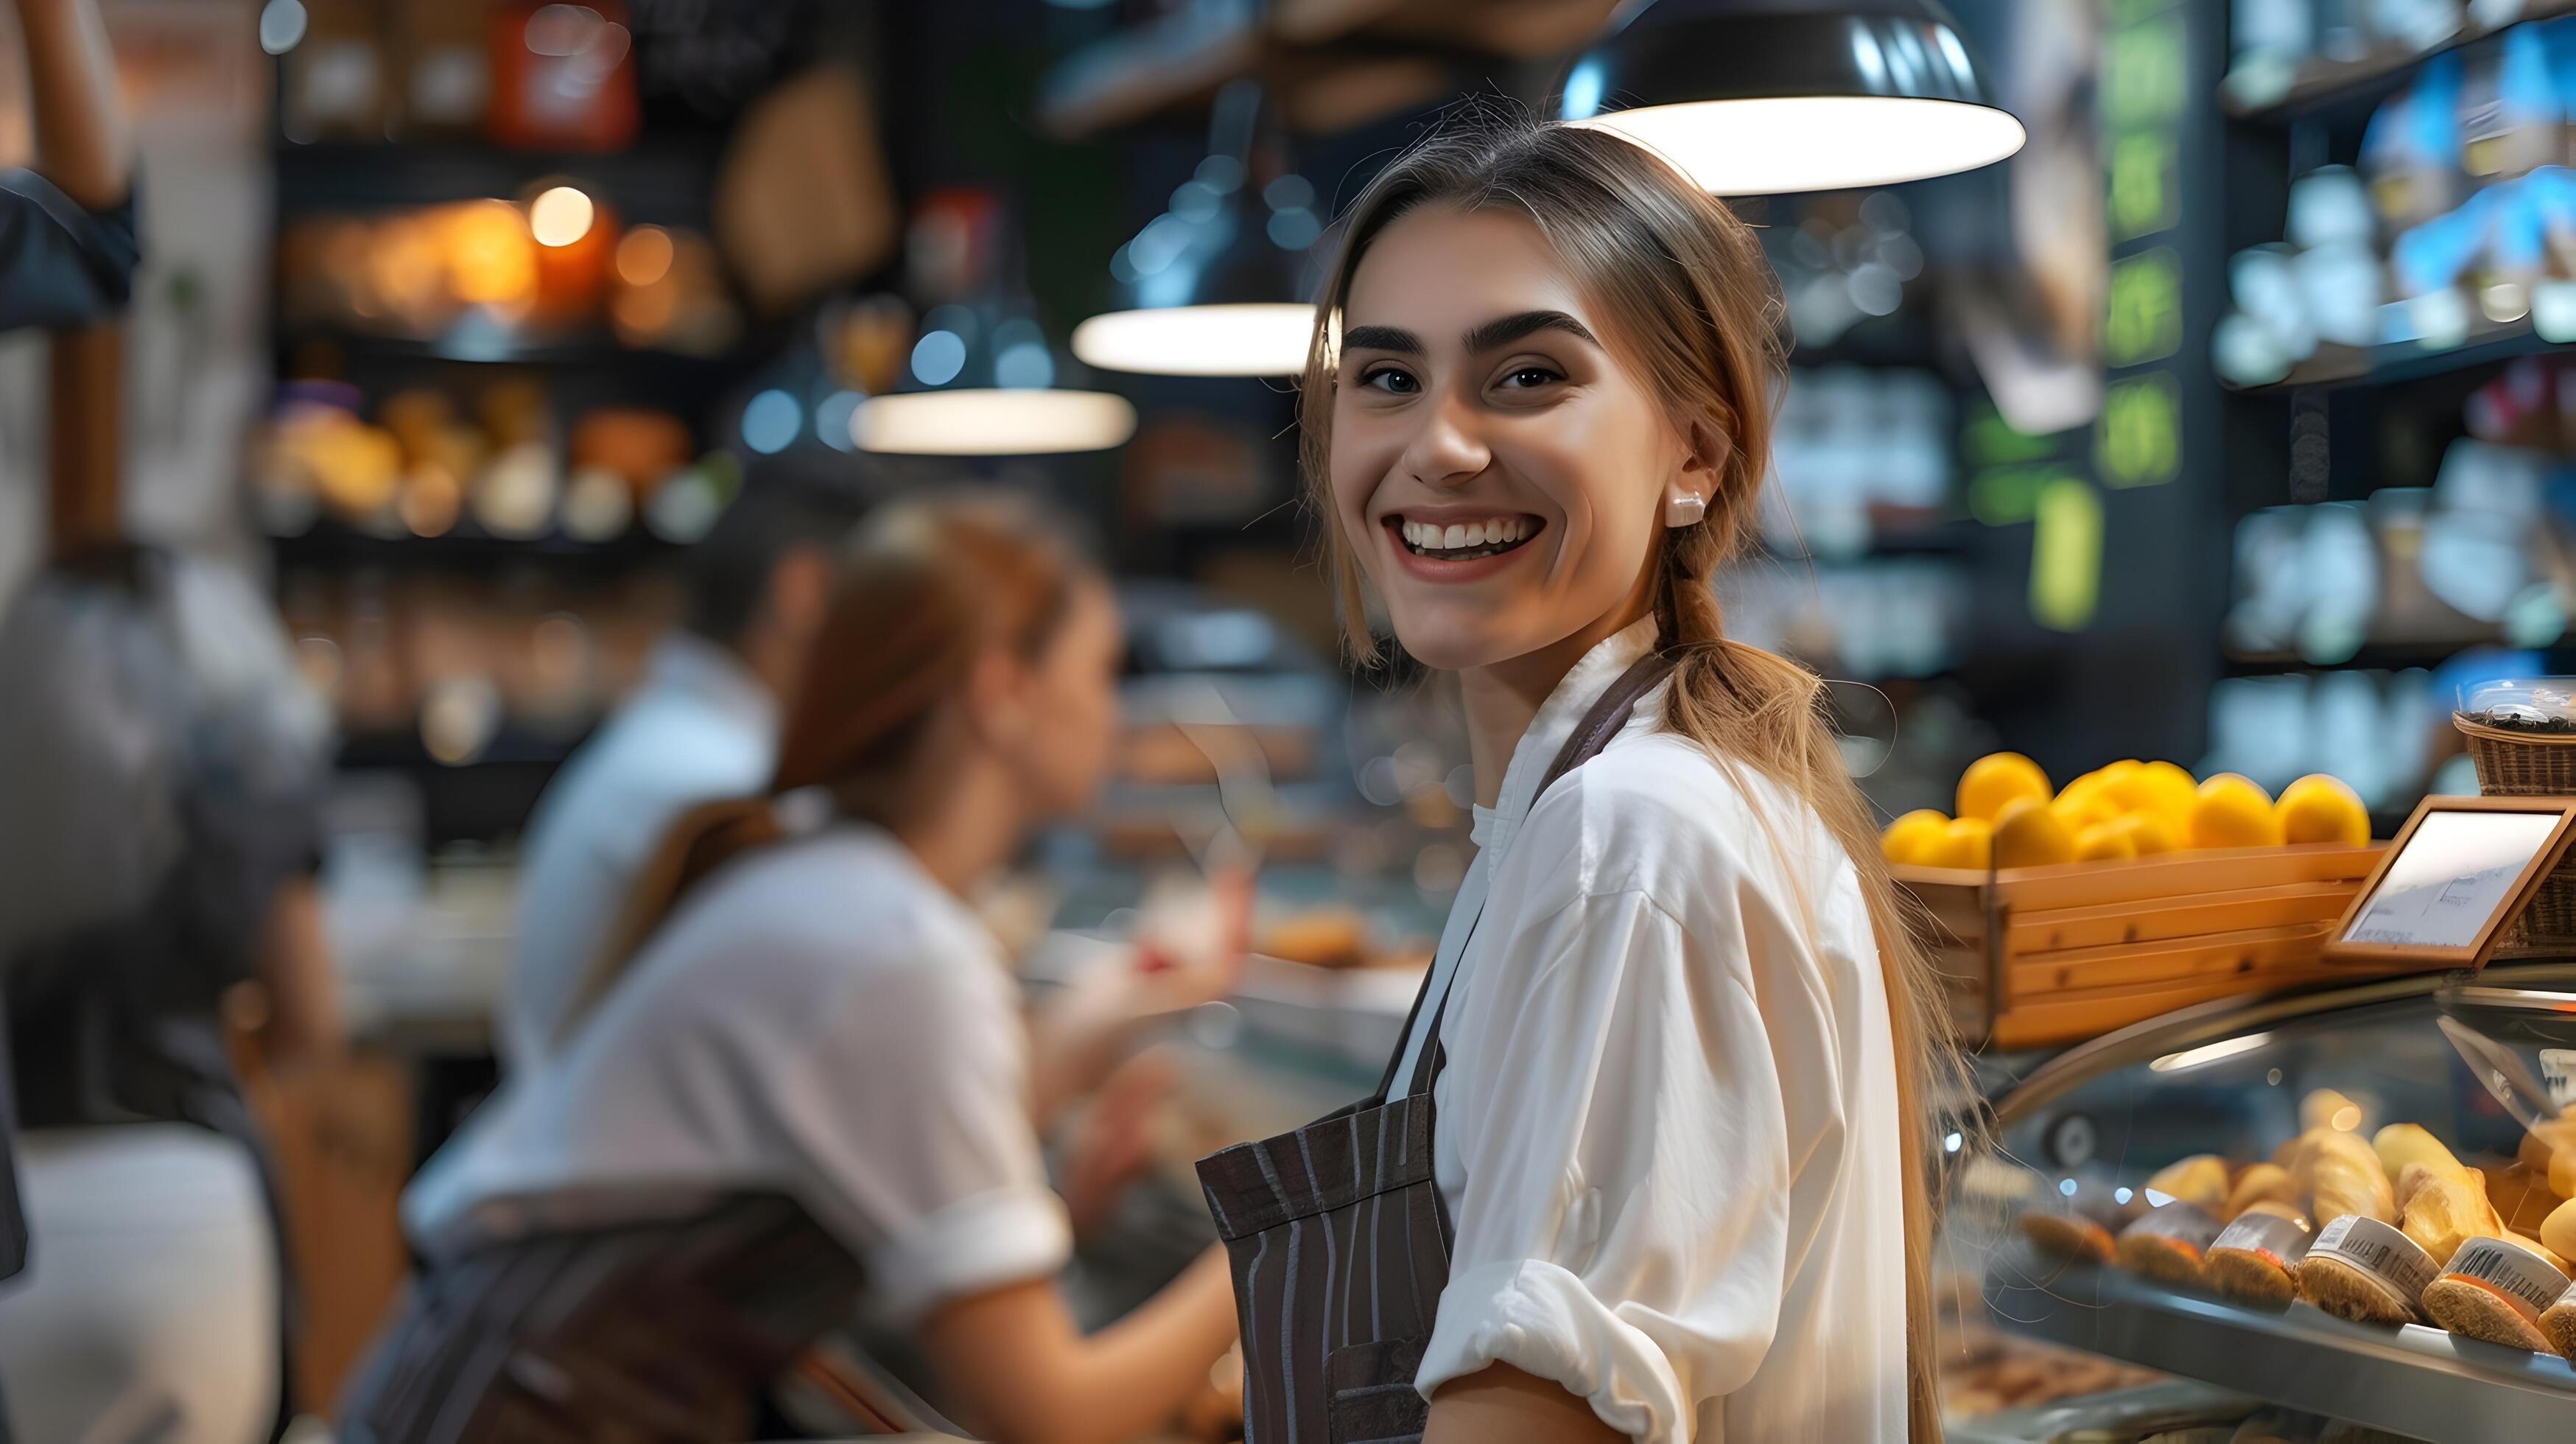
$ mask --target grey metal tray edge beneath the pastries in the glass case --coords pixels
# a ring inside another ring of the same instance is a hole
[[[2439,1328],[2367,1328],[2306,1302],[2254,1312],[2136,1274],[1996,1251],[1986,1305],[1999,1328],[2202,1380],[2282,1408],[2432,1444],[2576,1439],[2576,1369]]]

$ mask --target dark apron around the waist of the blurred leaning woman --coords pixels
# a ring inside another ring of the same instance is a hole
[[[850,1251],[781,1194],[546,1230],[412,1282],[340,1400],[345,1444],[732,1444],[858,1307]]]

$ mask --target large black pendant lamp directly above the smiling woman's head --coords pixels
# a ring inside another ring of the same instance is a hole
[[[1937,0],[1643,0],[1566,70],[1558,119],[1721,196],[1893,186],[2022,150]]]

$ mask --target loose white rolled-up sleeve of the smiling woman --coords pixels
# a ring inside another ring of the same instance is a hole
[[[1762,1364],[1790,1106],[1747,928],[1713,892],[1687,931],[1646,892],[1579,895],[1512,926],[1461,988],[1437,1127],[1463,1191],[1425,1395],[1510,1364],[1664,1441]]]

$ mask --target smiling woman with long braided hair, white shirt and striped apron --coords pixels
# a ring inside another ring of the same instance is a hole
[[[1937,1439],[1927,1122],[1958,1057],[1814,673],[1710,578],[1770,464],[1749,227],[1476,119],[1345,217],[1303,451],[1458,673],[1476,866],[1386,1086],[1200,1166],[1262,1441]]]

